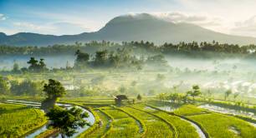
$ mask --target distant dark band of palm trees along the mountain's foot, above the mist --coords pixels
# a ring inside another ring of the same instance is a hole
[[[88,43],[75,42],[74,45],[54,45],[48,47],[11,47],[0,46],[0,55],[56,55],[56,54],[74,54],[78,49],[84,50],[89,53],[94,53],[99,49],[113,50],[117,48],[129,48],[131,51],[136,52],[138,49],[144,52],[161,52],[168,53],[183,53],[193,55],[194,52],[218,52],[230,54],[256,54],[256,45],[239,46],[233,44],[221,44],[215,41],[212,42],[180,42],[178,44],[164,43],[160,46],[155,45],[153,42],[97,42],[92,41]]]

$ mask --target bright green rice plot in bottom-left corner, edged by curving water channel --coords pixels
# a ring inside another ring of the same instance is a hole
[[[44,113],[38,109],[0,103],[1,137],[21,137],[46,121]]]

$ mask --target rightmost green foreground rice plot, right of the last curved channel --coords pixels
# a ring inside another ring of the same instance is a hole
[[[190,107],[192,107],[191,111],[189,110]],[[195,111],[195,113],[192,111]],[[248,122],[233,116],[210,111],[205,114],[203,109],[197,108],[196,106],[182,106],[182,108],[175,112],[182,116],[186,116],[192,121],[196,121],[208,132],[210,137],[256,137],[255,127],[248,124]],[[235,131],[233,131],[233,129],[235,129]]]

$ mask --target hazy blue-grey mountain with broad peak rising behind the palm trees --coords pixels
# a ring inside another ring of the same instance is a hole
[[[164,42],[212,42],[233,44],[256,44],[254,37],[240,37],[199,27],[189,23],[167,22],[150,14],[125,15],[115,17],[97,32],[84,32],[77,35],[43,35],[20,32],[7,36],[0,32],[0,44],[11,46],[49,46],[74,42],[101,41],[149,41]]]

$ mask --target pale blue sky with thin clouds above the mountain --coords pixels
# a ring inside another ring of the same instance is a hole
[[[170,22],[256,37],[255,0],[0,0],[0,32],[95,32],[113,17],[144,12]]]

